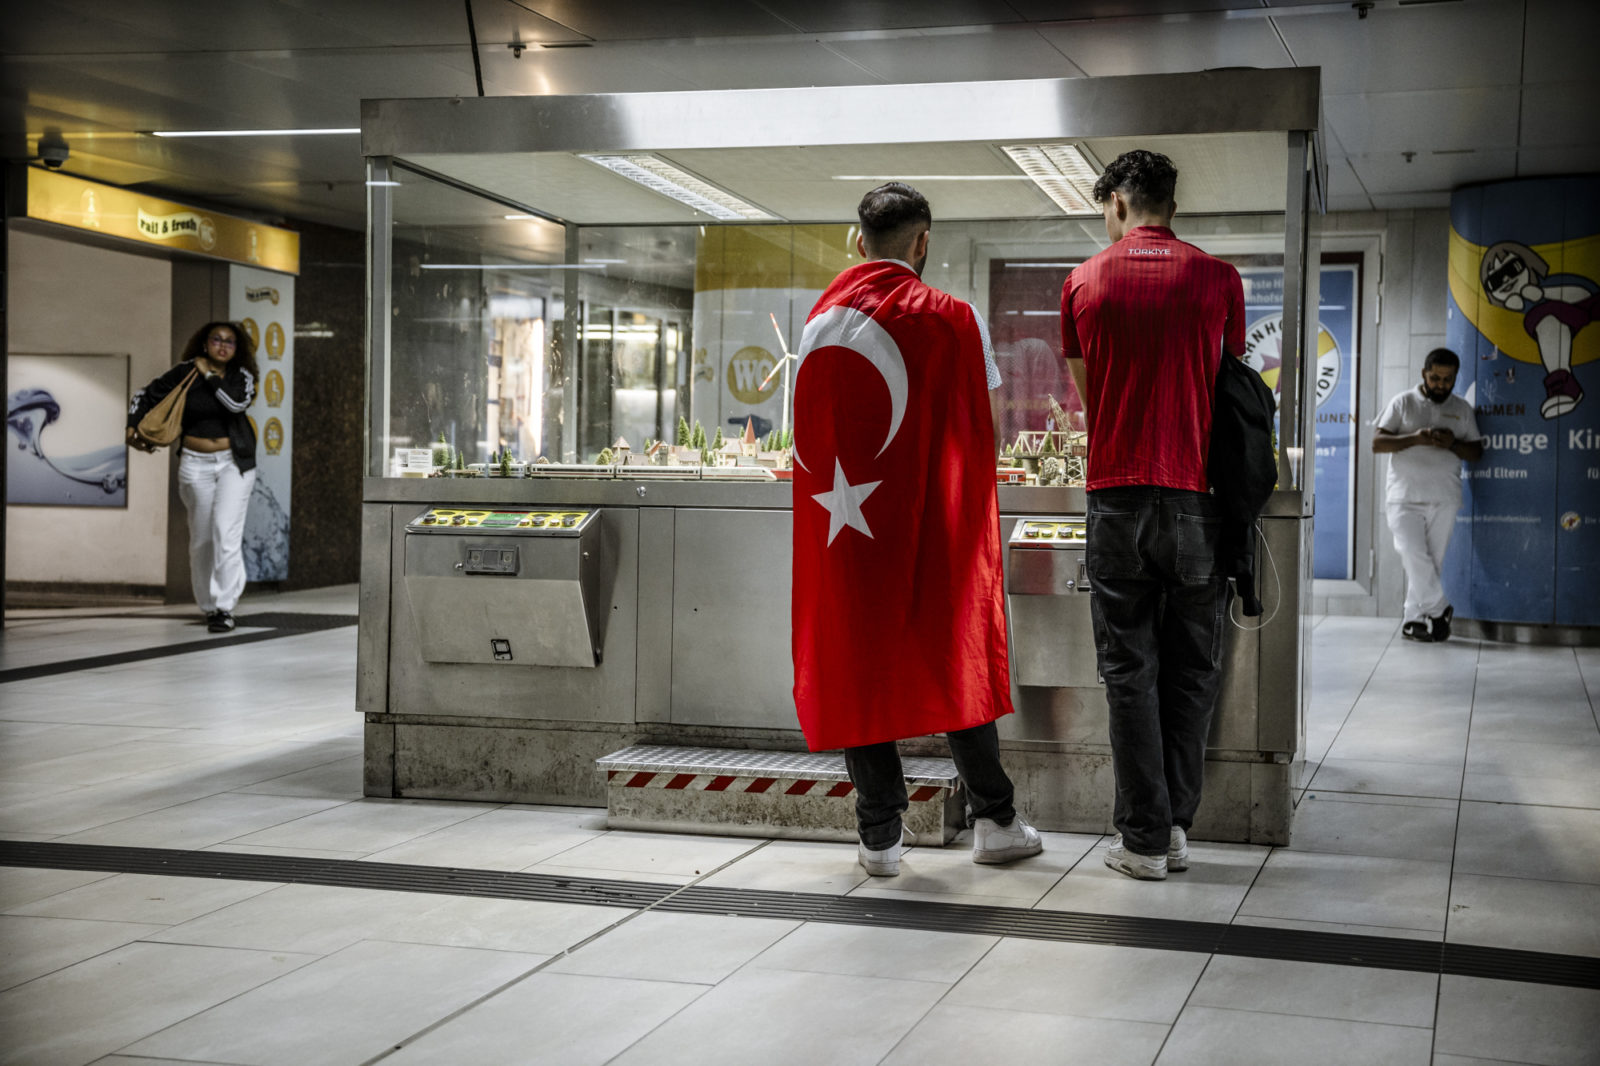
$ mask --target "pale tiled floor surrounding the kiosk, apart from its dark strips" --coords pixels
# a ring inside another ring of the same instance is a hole
[[[354,613],[354,589],[254,611]],[[206,640],[14,611],[0,671]],[[1294,845],[1165,884],[366,800],[355,629],[0,683],[0,837],[1190,919],[1600,956],[1600,651],[1314,631]],[[0,1063],[1600,1063],[1600,992],[962,932],[0,866]]]

